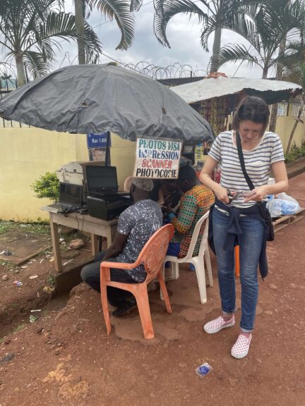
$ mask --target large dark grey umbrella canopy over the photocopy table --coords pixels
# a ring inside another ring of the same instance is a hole
[[[1,99],[0,116],[47,130],[109,130],[131,141],[214,139],[208,122],[172,90],[111,63],[67,66],[34,80]]]

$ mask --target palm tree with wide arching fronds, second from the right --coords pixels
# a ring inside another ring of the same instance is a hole
[[[197,6],[198,1],[205,7],[207,13]],[[219,53],[222,30],[232,30],[242,36],[249,35],[249,30],[250,32],[253,30],[251,21],[246,20],[244,10],[240,8],[242,4],[242,0],[154,0],[155,35],[162,45],[170,47],[166,35],[169,20],[179,13],[189,16],[197,15],[199,20],[203,22],[201,45],[205,51],[209,51],[208,39],[215,32],[213,56],[210,61],[210,72],[215,72],[220,67]],[[131,0],[132,10],[137,11],[141,5],[141,0]]]

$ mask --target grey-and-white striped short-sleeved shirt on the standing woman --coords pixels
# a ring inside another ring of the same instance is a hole
[[[247,151],[243,149],[246,171],[254,187],[267,185],[270,176],[270,166],[277,161],[284,161],[284,152],[280,137],[275,133],[265,133],[256,147]],[[232,192],[249,192],[249,186],[239,162],[237,146],[234,142],[233,131],[220,133],[216,137],[209,155],[221,162],[220,185]],[[256,202],[232,202],[236,207],[249,207]]]

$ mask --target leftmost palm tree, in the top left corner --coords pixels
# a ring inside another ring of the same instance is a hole
[[[25,66],[33,78],[45,75],[54,60],[54,48],[61,48],[59,39],[76,39],[75,18],[61,11],[61,6],[62,0],[1,0],[0,44],[6,60],[15,59],[19,86],[26,82]],[[85,35],[87,54],[100,53],[100,40],[88,24]]]

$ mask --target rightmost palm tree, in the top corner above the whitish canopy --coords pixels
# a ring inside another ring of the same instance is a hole
[[[226,62],[245,61],[249,66],[259,66],[262,78],[268,77],[270,68],[280,62],[289,35],[305,18],[304,1],[268,0],[244,1],[246,13],[252,18],[255,31],[244,37],[250,47],[244,44],[229,44],[220,49],[220,66]],[[251,4],[251,5],[249,5]],[[242,8],[241,8],[242,9]]]

